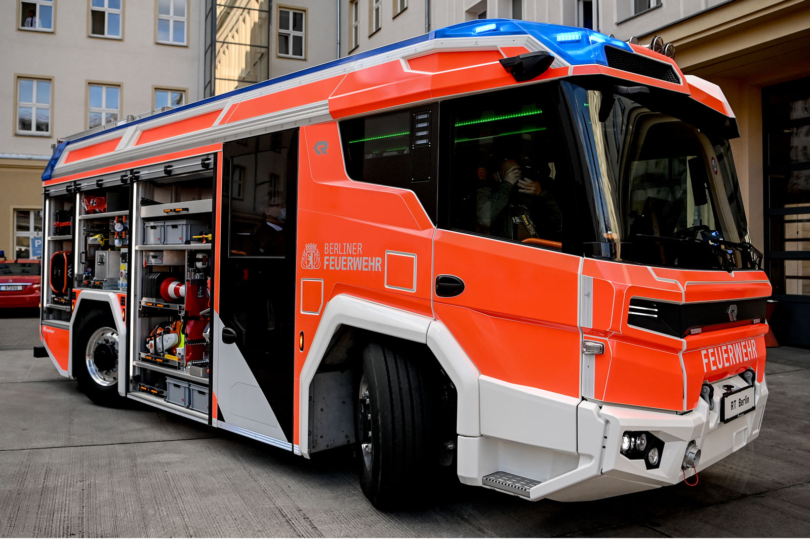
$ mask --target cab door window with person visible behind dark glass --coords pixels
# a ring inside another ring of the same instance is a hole
[[[447,225],[561,249],[572,182],[549,91],[533,86],[447,106]]]

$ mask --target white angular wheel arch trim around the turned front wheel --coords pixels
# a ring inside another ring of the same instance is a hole
[[[325,372],[351,369],[353,366],[347,365],[347,362],[351,361],[347,353],[352,347],[368,342],[375,336],[423,344],[426,351],[431,353],[432,361],[441,367],[455,387],[458,411],[456,431],[459,435],[480,435],[478,398],[480,372],[458,346],[458,342],[445,325],[416,313],[408,313],[353,296],[338,295],[326,304],[318,330],[301,368],[298,444],[294,447],[297,453],[305,457],[309,457],[310,453],[309,432],[313,428],[310,425],[313,415],[310,411],[309,396],[315,376]],[[342,392],[345,392],[345,385]],[[338,396],[335,396],[335,399],[338,399]],[[352,429],[353,422],[352,417]]]

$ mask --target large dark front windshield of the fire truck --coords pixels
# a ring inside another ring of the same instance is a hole
[[[600,194],[601,230],[586,254],[706,270],[759,265],[726,139],[654,110],[644,87],[564,86]]]

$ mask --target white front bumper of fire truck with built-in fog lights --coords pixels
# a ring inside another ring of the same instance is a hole
[[[692,469],[684,471],[681,467],[691,441],[701,449],[697,465],[700,471],[759,436],[768,399],[765,381],[754,384],[756,408],[723,423],[720,420],[722,387],[730,383],[736,388],[746,385],[740,376],[718,381],[713,384],[714,406],[710,407],[701,399],[694,410],[684,415],[619,405],[600,408],[593,402],[580,402],[575,453],[556,444],[537,444],[537,440],[530,443],[525,434],[518,432],[513,437],[501,429],[497,436],[492,436],[495,434],[488,433],[491,430],[484,423],[485,400],[482,399],[482,436],[458,437],[458,476],[463,483],[473,485],[482,485],[482,477],[497,471],[539,480],[526,497],[530,500],[595,500],[679,483],[684,480],[684,472],[685,478],[694,474]],[[522,392],[514,387],[513,390]],[[525,398],[515,399],[526,405]],[[549,412],[552,411],[524,408],[519,415],[542,418]],[[663,440],[657,468],[648,470],[643,459],[631,460],[620,453],[625,432],[650,432]]]

